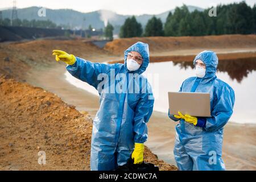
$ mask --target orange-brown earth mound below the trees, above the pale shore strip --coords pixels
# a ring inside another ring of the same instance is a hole
[[[138,41],[148,43],[151,54],[176,49],[256,47],[256,35],[216,35],[115,39],[107,43],[104,49],[122,55],[127,47]]]

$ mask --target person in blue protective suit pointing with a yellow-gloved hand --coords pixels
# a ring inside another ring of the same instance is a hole
[[[112,170],[134,159],[143,162],[148,119],[154,97],[141,74],[149,63],[148,44],[137,42],[125,51],[125,63],[101,64],[53,50],[56,60],[68,64],[72,76],[87,82],[100,94],[100,109],[93,120],[91,170]]]

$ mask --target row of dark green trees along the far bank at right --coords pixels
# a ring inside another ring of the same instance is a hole
[[[255,34],[256,5],[252,8],[244,1],[229,5],[218,5],[217,16],[209,16],[209,9],[189,12],[183,5],[168,14],[163,24],[153,16],[148,20],[144,31],[135,16],[127,18],[119,32],[120,38],[135,36],[200,36],[222,34]]]

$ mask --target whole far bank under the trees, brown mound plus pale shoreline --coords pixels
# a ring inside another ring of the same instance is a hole
[[[150,61],[191,61],[205,49],[216,51],[220,60],[256,57],[256,35],[182,36],[116,39],[105,50],[117,55],[141,41],[150,47]],[[122,63],[123,60],[110,63]]]

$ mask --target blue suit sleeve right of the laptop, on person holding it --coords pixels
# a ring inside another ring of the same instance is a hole
[[[234,106],[234,91],[228,86],[222,86],[221,90],[216,93],[216,104],[211,112],[212,117],[207,117],[205,125],[206,131],[217,131],[228,122],[233,113]]]

